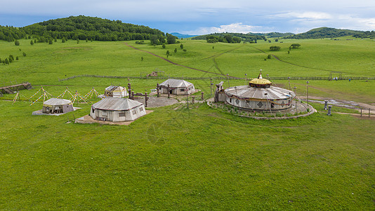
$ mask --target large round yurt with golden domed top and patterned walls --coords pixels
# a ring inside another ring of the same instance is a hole
[[[293,91],[273,87],[268,79],[252,79],[248,85],[225,89],[226,103],[245,110],[287,110],[296,97]]]

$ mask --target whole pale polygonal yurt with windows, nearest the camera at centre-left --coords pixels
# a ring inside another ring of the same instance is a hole
[[[133,121],[146,115],[143,103],[129,98],[106,97],[91,106],[90,116],[94,120],[110,122]]]

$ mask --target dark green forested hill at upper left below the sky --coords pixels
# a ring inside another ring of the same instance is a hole
[[[34,37],[49,39],[81,39],[97,41],[122,41],[150,39],[164,32],[143,25],[122,23],[121,20],[86,17],[84,15],[58,18],[25,27],[0,26],[0,39],[14,41]]]

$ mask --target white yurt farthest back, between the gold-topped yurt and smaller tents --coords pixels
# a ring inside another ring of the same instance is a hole
[[[168,94],[169,91],[169,94],[185,95],[195,93],[195,87],[194,84],[183,79],[167,79],[159,84],[159,91],[162,94]]]

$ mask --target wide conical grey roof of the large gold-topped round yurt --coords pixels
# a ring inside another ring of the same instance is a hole
[[[279,100],[294,98],[294,96],[296,96],[293,91],[279,87],[256,88],[249,86],[229,87],[228,89],[225,89],[225,94],[230,97],[235,96],[246,100]]]

